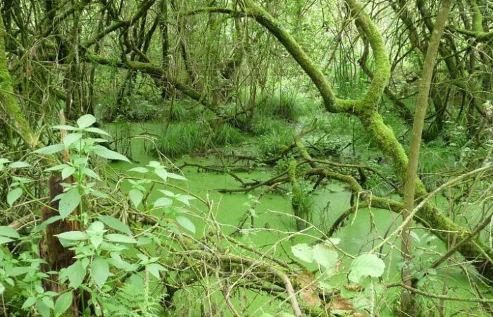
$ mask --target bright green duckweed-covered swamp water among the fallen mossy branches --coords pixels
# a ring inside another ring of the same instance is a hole
[[[163,131],[161,123],[111,123],[104,128],[116,140],[112,144],[113,149],[120,151],[120,153],[135,161],[132,165],[128,163],[111,163],[111,168],[123,172],[132,167],[145,166],[149,161],[156,160],[156,155],[151,151],[154,147],[152,138],[161,135]],[[220,161],[214,156],[187,157],[173,160],[175,166],[181,166],[184,162],[196,163],[201,166],[209,164],[220,165]],[[221,224],[221,228],[226,235],[234,232],[236,225],[238,225],[248,209],[248,206],[244,204],[249,201],[249,194],[220,194],[214,189],[239,188],[239,182],[230,175],[205,172],[192,166],[182,168],[182,174],[185,175],[187,181],[180,182],[180,187],[199,195],[203,199],[213,201],[213,218]],[[256,168],[251,173],[235,174],[248,182],[251,180],[268,180],[275,175],[275,170],[274,168],[262,167]],[[156,187],[156,189],[158,188]],[[286,189],[289,190],[288,187]],[[250,194],[257,195],[260,191],[257,189]],[[349,209],[350,197],[350,192],[339,182],[329,182],[327,185],[320,187],[313,193],[311,223],[316,228],[319,228],[321,232],[325,232],[330,228],[334,220]],[[153,200],[152,195],[149,199],[150,201]],[[204,205],[199,209],[204,211]],[[199,209],[194,212],[200,213],[201,211],[197,211]],[[269,193],[264,195],[256,206],[256,215],[258,217],[254,220],[254,228],[246,230],[247,234],[237,237],[237,239],[245,244],[254,244],[261,251],[268,252],[278,259],[285,259],[288,263],[290,259],[296,259],[292,255],[292,245],[298,243],[310,244],[316,242],[316,238],[321,236],[317,230],[306,230],[302,234],[297,234],[296,224],[291,216],[292,207],[289,194]],[[206,216],[205,211],[200,216]],[[210,218],[211,216],[208,217]],[[207,230],[207,226],[204,225],[204,221],[199,217],[192,218],[192,221],[196,227],[196,235],[200,237],[202,232]],[[397,228],[396,223],[400,223],[400,218],[395,213],[381,209],[360,209],[356,214],[348,218],[347,223],[333,237],[340,239],[338,247],[344,251],[349,254],[359,254],[375,247],[381,241],[381,237],[385,237],[388,232],[392,232]],[[249,220],[246,221],[244,228],[249,228]],[[418,237],[423,237],[426,232],[418,226],[413,231],[416,232]],[[400,240],[393,243],[400,246]],[[433,240],[431,245],[435,249],[425,251],[423,256],[425,259],[428,256],[429,261],[437,259],[437,251],[442,253],[445,250],[444,244],[438,240]],[[423,249],[427,248],[426,245],[421,247]],[[385,281],[399,282],[399,251],[387,245],[382,249],[382,254],[386,263],[383,275]],[[342,254],[339,253],[340,257],[342,257]],[[299,261],[299,259],[296,260]],[[316,271],[317,269],[313,264],[304,263],[304,265],[311,271]],[[342,271],[347,271],[348,266],[349,261],[344,261],[341,266]],[[180,290],[175,294],[176,312],[180,316],[202,316],[201,311],[204,310],[204,306],[219,307],[220,311],[224,312],[224,315],[217,316],[231,316],[230,311],[225,308],[220,285],[217,285],[216,280],[213,278],[209,280],[210,285],[213,285],[211,289],[214,290],[211,294],[203,294],[203,290],[199,289],[199,287],[187,287],[187,289]],[[430,282],[425,287],[426,292],[444,294],[442,284],[444,280],[447,280],[448,292],[445,293],[447,296],[475,296],[475,292],[470,287],[466,275],[454,265],[451,265],[447,271],[438,271],[437,276],[435,276],[435,282]],[[333,285],[338,289],[342,288],[344,297],[351,299],[351,303],[356,308],[365,309],[367,312],[374,310],[377,316],[395,316],[392,313],[392,306],[399,299],[399,289],[397,287],[386,290],[383,297],[372,299],[368,297],[368,294],[363,294],[362,292],[344,292],[342,285],[349,283],[345,273],[335,275],[325,280],[325,282],[327,285]],[[245,291],[232,294],[231,300],[237,308],[246,312],[244,316],[262,316],[263,313],[275,315],[278,311],[291,311],[289,303],[281,303],[279,300],[272,300],[272,298],[263,294]],[[438,300],[434,299],[434,302],[436,304]],[[478,306],[473,303],[444,302],[444,311],[447,316],[489,316],[478,311],[475,307]],[[212,307],[211,309],[213,310],[214,308]],[[431,311],[433,311],[432,308],[430,311],[425,312],[425,316],[434,316],[432,314],[428,315]]]

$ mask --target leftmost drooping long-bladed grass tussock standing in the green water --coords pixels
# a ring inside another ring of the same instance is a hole
[[[170,123],[156,142],[159,151],[170,158],[191,154],[206,147],[206,126],[195,122]]]

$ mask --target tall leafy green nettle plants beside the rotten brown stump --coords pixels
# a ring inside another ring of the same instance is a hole
[[[63,163],[45,170],[48,173],[59,172],[61,178],[65,180],[61,183],[63,193],[54,198],[54,201],[58,201],[59,214],[37,225],[29,237],[20,237],[12,228],[0,226],[0,294],[4,296],[5,285],[15,286],[16,292],[20,289],[23,297],[23,309],[35,311],[41,316],[61,316],[70,308],[75,292],[81,296],[88,294],[87,304],[92,305],[98,316],[114,313],[111,307],[121,313],[122,306],[115,307],[110,304],[105,306],[101,303],[106,302],[111,296],[118,297],[118,287],[115,290],[118,286],[117,281],[122,279],[137,281],[139,285],[138,278],[129,278],[139,275],[146,276],[145,287],[142,290],[142,287],[134,285],[135,289],[142,291],[142,299],[136,292],[139,307],[126,307],[129,316],[136,312],[139,316],[147,316],[155,311],[158,303],[158,299],[152,298],[149,292],[149,277],[160,279],[161,273],[166,271],[166,268],[160,263],[159,256],[151,255],[146,249],[146,246],[151,244],[154,250],[156,246],[161,245],[162,235],[155,232],[156,226],[140,228],[139,234],[135,235],[119,217],[103,215],[100,211],[94,210],[94,207],[85,206],[85,202],[89,199],[110,198],[104,189],[98,189],[99,186],[96,186],[97,182],[102,181],[100,175],[92,168],[93,156],[130,163],[122,154],[101,145],[108,142],[107,139],[90,136],[90,134],[109,136],[104,130],[92,127],[95,122],[94,116],[85,115],[77,120],[77,126],[57,125],[54,129],[68,132],[67,134],[62,132],[61,144],[50,145],[33,152],[41,155],[57,154],[61,151],[68,153],[68,159]],[[35,198],[25,186],[33,180],[15,175],[17,169],[28,167],[30,164],[24,161],[11,162],[0,158],[0,172],[11,178],[7,194],[7,202],[11,207],[15,206],[16,201],[23,194]],[[163,211],[163,216],[166,215],[174,219],[182,228],[195,232],[194,223],[186,216],[189,213],[187,208],[190,206],[190,201],[195,199],[191,194],[158,189],[160,195],[157,199],[151,204],[147,202],[154,185],[169,185],[170,179],[184,181],[185,177],[171,173],[158,161],[151,161],[146,167],[130,168],[128,172],[142,174],[142,178],[128,178],[132,187],[128,194],[129,199],[138,213],[146,215],[152,212],[156,215],[157,211]],[[151,175],[154,176],[149,177]],[[75,209],[78,212],[73,214]],[[68,287],[63,294],[46,292],[42,287],[42,280],[53,279],[53,276],[40,270],[40,264],[44,260],[38,259],[39,250],[36,241],[46,225],[65,218],[80,224],[80,230],[57,235],[63,247],[71,249],[75,254],[74,263],[55,274],[58,275],[58,281]],[[168,228],[172,232],[180,233],[173,221],[166,221],[158,216],[154,216],[154,220],[161,230]],[[5,247],[5,244],[10,242],[25,242],[31,245],[32,250],[13,256]],[[127,283],[123,285],[127,289],[132,287]],[[131,311],[132,309],[134,311]]]

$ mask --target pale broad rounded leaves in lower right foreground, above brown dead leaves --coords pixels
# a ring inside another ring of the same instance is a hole
[[[383,287],[375,280],[383,275],[385,262],[373,253],[360,254],[351,260],[347,271],[343,271],[342,258],[336,248],[339,242],[339,238],[330,238],[327,242],[313,246],[300,243],[292,246],[291,251],[298,259],[317,265],[318,285],[327,292],[339,288],[335,286],[339,285],[340,282],[332,279],[335,275],[341,273],[347,275],[349,284],[341,288],[342,297],[350,299],[354,309],[366,309],[373,312],[375,295],[383,290]],[[361,292],[361,290],[363,291]],[[335,309],[332,312],[344,314],[347,311]]]

